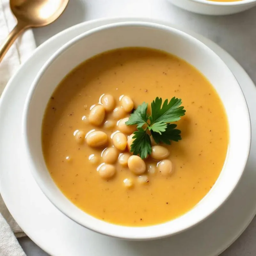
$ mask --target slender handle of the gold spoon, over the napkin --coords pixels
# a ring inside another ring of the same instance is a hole
[[[0,62],[3,60],[5,53],[9,50],[16,38],[26,29],[22,23],[17,23],[17,25],[12,29],[10,34],[5,38],[4,42],[0,45]]]

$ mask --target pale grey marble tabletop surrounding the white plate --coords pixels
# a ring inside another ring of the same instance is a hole
[[[208,37],[228,51],[256,84],[256,8],[234,15],[215,17],[180,10],[166,0],[70,0],[66,11],[57,21],[47,27],[34,29],[36,44],[38,46],[61,30],[83,21],[128,16],[166,20]],[[28,237],[20,238],[19,242],[27,256],[48,255]],[[256,255],[256,219],[242,236],[221,254],[241,255]]]

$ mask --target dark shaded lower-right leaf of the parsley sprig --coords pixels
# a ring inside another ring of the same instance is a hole
[[[180,130],[175,129],[176,124],[167,124],[166,130],[162,132],[162,134],[158,132],[151,131],[151,135],[157,144],[163,142],[165,144],[170,145],[171,140],[179,141],[181,140]]]

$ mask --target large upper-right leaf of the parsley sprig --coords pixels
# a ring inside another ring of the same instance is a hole
[[[162,106],[162,98],[156,97],[156,100],[151,103],[150,124],[156,122],[171,123],[180,120],[180,116],[184,116],[186,112],[184,107],[180,107],[181,103],[181,99],[173,97],[169,103],[168,99],[164,100]]]

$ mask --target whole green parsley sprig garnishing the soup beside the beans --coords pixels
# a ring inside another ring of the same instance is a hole
[[[131,114],[126,125],[137,125],[137,131],[132,137],[131,152],[134,155],[146,158],[151,154],[151,140],[147,130],[150,131],[156,143],[165,143],[170,145],[171,140],[181,140],[180,130],[175,129],[176,124],[170,124],[180,120],[181,116],[185,115],[186,110],[180,106],[181,99],[173,97],[169,102],[162,98],[156,97],[151,103],[151,115],[148,114],[148,103],[143,102]],[[149,121],[149,122],[148,122]]]

